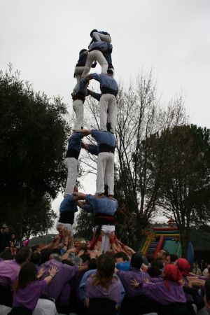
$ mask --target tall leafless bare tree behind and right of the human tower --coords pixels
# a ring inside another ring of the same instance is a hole
[[[87,99],[86,125],[99,128],[99,106]],[[118,231],[132,246],[138,247],[141,230],[155,212],[162,172],[162,160],[155,179],[148,165],[150,150],[147,139],[151,134],[182,125],[186,122],[183,99],[179,97],[162,109],[157,97],[152,73],[143,73],[128,89],[118,92],[118,116],[116,127],[115,195],[119,202]],[[91,140],[92,141],[92,140]],[[81,157],[85,172],[96,172],[95,158],[87,153]]]

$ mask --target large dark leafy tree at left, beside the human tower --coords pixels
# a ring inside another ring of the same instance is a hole
[[[11,68],[0,72],[1,221],[9,217],[6,223],[15,225],[16,214],[32,220],[30,211],[35,218],[39,205],[36,220],[41,231],[45,202],[57,196],[66,180],[63,160],[69,125],[62,100],[34,92],[19,74]]]

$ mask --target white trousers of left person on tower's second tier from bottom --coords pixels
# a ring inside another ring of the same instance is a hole
[[[66,181],[66,188],[64,197],[73,194],[73,189],[76,186],[76,179],[78,174],[78,160],[76,158],[65,158],[64,163],[68,169],[68,176]]]

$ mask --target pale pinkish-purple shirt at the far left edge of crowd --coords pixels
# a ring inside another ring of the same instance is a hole
[[[0,284],[6,288],[10,288],[18,280],[19,272],[20,265],[15,260],[1,261]]]

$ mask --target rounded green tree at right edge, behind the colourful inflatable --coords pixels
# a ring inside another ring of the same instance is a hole
[[[153,178],[162,160],[157,204],[163,214],[174,215],[186,257],[190,226],[209,221],[210,130],[196,125],[175,126],[153,134],[150,146]]]

